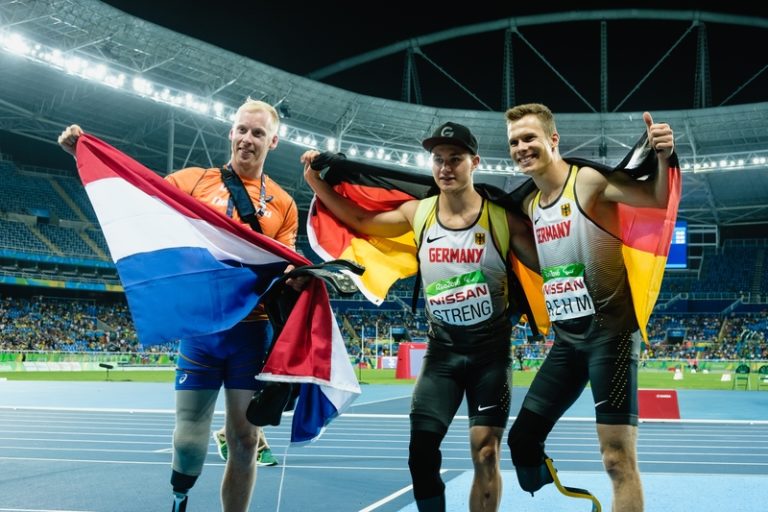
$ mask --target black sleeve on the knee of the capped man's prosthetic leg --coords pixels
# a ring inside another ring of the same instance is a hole
[[[440,443],[442,434],[414,430],[408,446],[408,468],[413,481],[413,495],[417,500],[440,496],[445,484],[440,478]]]

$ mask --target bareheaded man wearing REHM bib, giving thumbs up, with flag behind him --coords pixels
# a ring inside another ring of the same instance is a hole
[[[518,105],[506,119],[510,156],[538,189],[523,207],[533,222],[555,332],[509,432],[518,480],[531,493],[557,481],[544,441],[589,383],[613,510],[640,512],[637,365],[680,199],[672,130],[643,114],[647,144],[628,158],[655,160],[657,168],[637,180],[563,160],[554,116],[544,105]]]

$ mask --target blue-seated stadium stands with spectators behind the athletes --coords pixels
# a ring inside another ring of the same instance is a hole
[[[0,216],[0,352],[145,352],[122,294],[100,286],[119,280],[83,187],[75,178],[44,176],[39,169],[26,174],[7,161],[0,169],[16,181],[12,192],[4,192],[14,199],[3,203]],[[47,222],[30,213],[30,204],[46,206]],[[768,306],[761,301],[768,284],[763,269],[767,246],[764,238],[725,239],[721,246],[704,248],[695,272],[668,271],[663,299],[648,327],[646,361],[694,360],[706,366],[707,360],[768,359]],[[306,237],[298,248],[320,261]],[[61,280],[70,285],[54,284]],[[413,284],[413,277],[396,283],[380,307],[359,293],[344,299],[331,293],[351,357],[362,352],[375,359],[390,350],[396,353],[399,341],[425,339],[423,301],[411,312]],[[514,330],[513,343],[526,367],[535,367],[546,355],[547,342],[534,339],[525,325]],[[146,351],[171,357],[173,348]],[[142,360],[150,361],[137,359]]]

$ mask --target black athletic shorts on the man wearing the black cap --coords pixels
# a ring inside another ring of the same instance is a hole
[[[411,400],[411,430],[445,435],[465,393],[470,427],[504,428],[511,380],[509,342],[470,354],[430,343]]]

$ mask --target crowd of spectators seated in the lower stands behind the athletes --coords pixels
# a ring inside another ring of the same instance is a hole
[[[426,319],[407,307],[336,307],[347,351],[358,359],[394,355],[400,341],[426,340]],[[541,359],[547,339],[533,339],[523,326],[513,332],[524,359]],[[768,359],[768,310],[730,315],[659,314],[648,325],[644,359]],[[362,338],[362,343],[361,343]],[[144,346],[124,301],[45,296],[0,297],[0,352],[173,353],[174,343]],[[391,353],[390,353],[391,351]],[[363,358],[360,358],[361,352]]]

